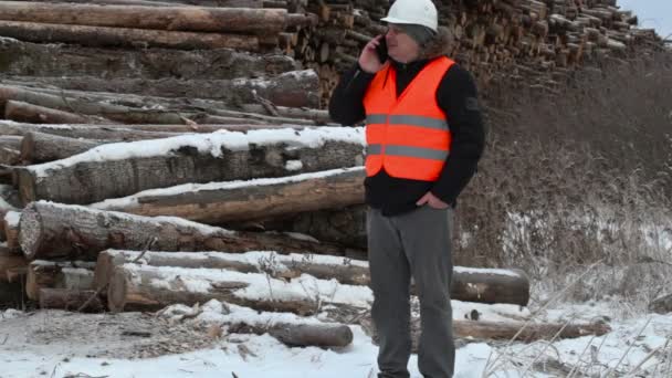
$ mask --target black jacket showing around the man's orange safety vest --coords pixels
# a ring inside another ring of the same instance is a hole
[[[421,60],[402,64],[392,61],[397,70],[397,95],[403,92],[428,62]],[[374,76],[359,65],[343,75],[329,101],[332,119],[343,125],[355,125],[366,118],[363,99]],[[439,84],[437,103],[448,115],[452,135],[450,155],[443,171],[433,182],[393,178],[385,169],[374,177],[367,177],[366,201],[372,208],[380,209],[384,216],[416,209],[416,202],[430,190],[454,207],[458,196],[476,171],[485,144],[485,132],[476,86],[470,73],[453,64]]]

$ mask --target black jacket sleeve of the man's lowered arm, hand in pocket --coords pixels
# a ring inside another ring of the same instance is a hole
[[[443,171],[431,192],[454,206],[475,174],[485,145],[485,128],[471,74],[454,64],[439,84],[437,102],[447,114],[452,143]]]

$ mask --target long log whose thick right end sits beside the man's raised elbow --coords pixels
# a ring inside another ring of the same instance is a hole
[[[15,80],[28,80],[17,77]],[[145,96],[213,98],[231,103],[255,103],[263,97],[279,106],[318,107],[319,78],[312,70],[292,71],[265,78],[180,80],[98,78],[93,76],[31,77],[29,82],[62,90],[133,93]],[[31,101],[29,103],[36,104]],[[83,113],[83,112],[82,112]],[[116,113],[115,113],[116,114]],[[99,113],[111,119],[107,113]]]

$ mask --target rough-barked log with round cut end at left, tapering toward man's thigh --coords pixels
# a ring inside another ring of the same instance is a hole
[[[23,209],[20,244],[29,260],[95,261],[106,249],[160,251],[276,251],[351,255],[360,251],[281,233],[234,232],[179,218],[149,218],[80,206],[32,202]]]

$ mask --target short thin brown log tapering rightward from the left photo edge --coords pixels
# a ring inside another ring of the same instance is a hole
[[[4,104],[4,118],[31,124],[94,124],[102,118],[52,109],[20,101],[10,99]]]

